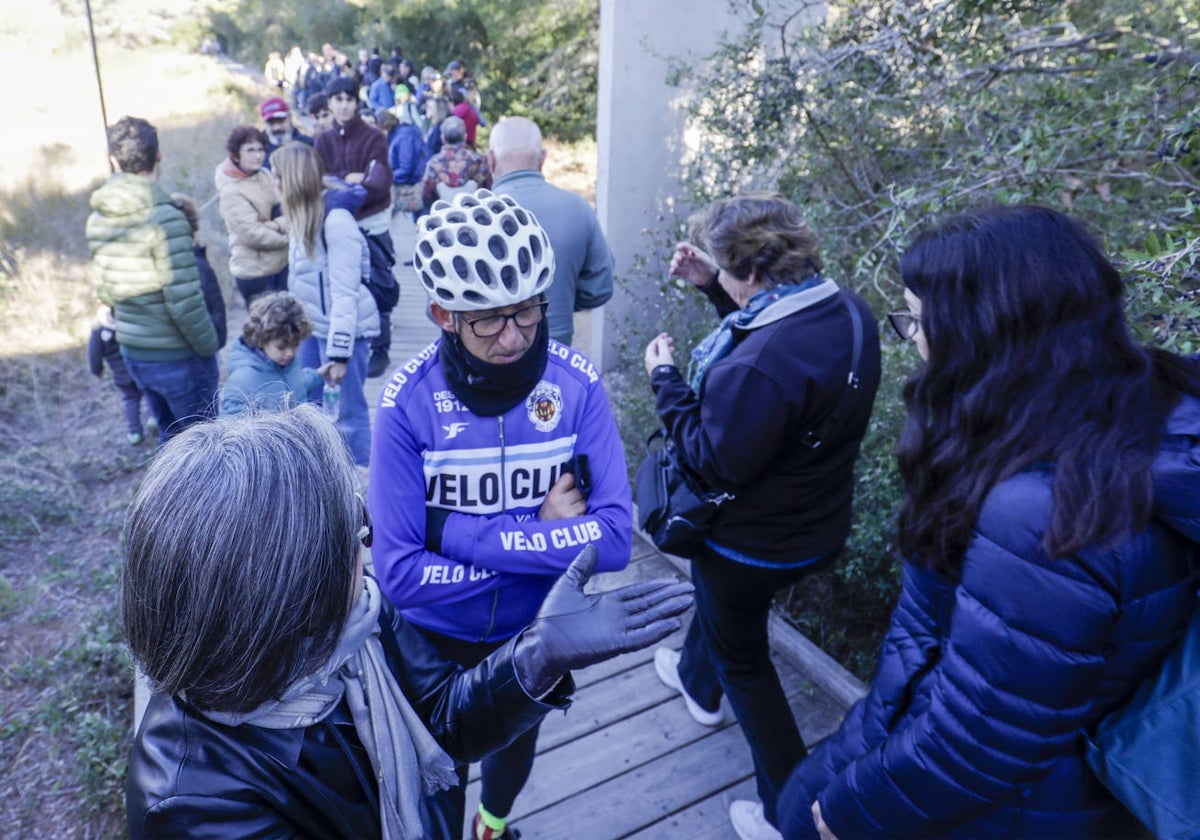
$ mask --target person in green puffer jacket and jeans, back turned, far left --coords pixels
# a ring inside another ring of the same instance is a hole
[[[155,180],[158,132],[136,116],[108,130],[116,172],[91,194],[86,238],[96,295],[113,307],[130,376],[158,418],[158,442],[209,419],[220,378],[216,329],[184,214]]]

